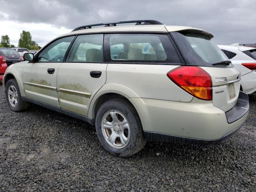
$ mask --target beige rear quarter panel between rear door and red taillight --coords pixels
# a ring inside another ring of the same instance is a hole
[[[106,84],[124,85],[141,98],[190,102],[193,98],[168,77],[167,73],[178,65],[116,64],[107,67]]]

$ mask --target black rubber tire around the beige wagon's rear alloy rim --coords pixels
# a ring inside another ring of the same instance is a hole
[[[108,144],[103,136],[101,122],[104,114],[109,110],[118,110],[121,112],[127,119],[130,126],[130,140],[124,148],[116,149],[112,147],[110,144]],[[132,156],[133,154],[139,152],[146,144],[146,139],[144,138],[138,113],[134,107],[124,99],[112,99],[102,104],[96,115],[95,126],[100,144],[105,148],[105,150],[116,156]]]

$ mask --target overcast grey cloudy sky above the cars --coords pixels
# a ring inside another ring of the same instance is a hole
[[[77,26],[154,19],[214,34],[216,44],[256,43],[254,0],[0,0],[0,36],[18,46],[22,30],[43,46]]]

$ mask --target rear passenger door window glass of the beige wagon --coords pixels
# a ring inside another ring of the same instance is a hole
[[[80,35],[74,41],[67,62],[103,62],[103,34]]]

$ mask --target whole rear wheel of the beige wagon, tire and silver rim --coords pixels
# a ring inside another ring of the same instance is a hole
[[[102,146],[116,156],[132,156],[146,144],[140,118],[127,100],[112,99],[102,104],[95,125]]]

